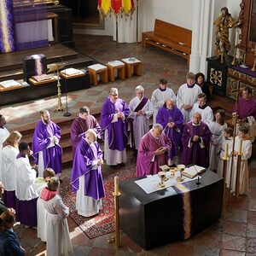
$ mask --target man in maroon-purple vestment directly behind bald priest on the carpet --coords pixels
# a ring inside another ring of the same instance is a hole
[[[86,106],[79,109],[79,115],[73,120],[70,128],[70,137],[72,142],[73,156],[76,152],[76,148],[84,136],[85,131],[93,129],[96,131],[97,137],[101,132],[101,126],[98,124],[96,118],[90,114],[90,109]]]

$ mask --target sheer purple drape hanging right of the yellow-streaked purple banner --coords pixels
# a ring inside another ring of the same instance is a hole
[[[16,49],[48,45],[46,1],[13,0]]]

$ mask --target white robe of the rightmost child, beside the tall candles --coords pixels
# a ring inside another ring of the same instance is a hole
[[[240,139],[238,136],[235,138],[235,152],[239,152],[239,146],[240,146]],[[247,160],[252,155],[252,143],[249,139],[242,141],[242,147],[241,147],[241,171],[240,171],[240,177],[239,177],[239,194],[248,194],[249,190],[249,169],[248,169],[248,163]],[[234,156],[233,160],[233,175],[232,175],[232,184],[231,184],[231,190],[235,192],[236,190],[236,168],[237,168],[237,157]]]

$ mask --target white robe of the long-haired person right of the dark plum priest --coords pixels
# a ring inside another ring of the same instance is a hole
[[[210,121],[209,129],[212,131],[212,138],[210,144],[210,166],[209,169],[214,171],[218,169],[218,160],[219,156],[217,155],[221,148],[221,135],[222,132],[228,125],[224,123],[224,125],[218,124],[216,121]]]

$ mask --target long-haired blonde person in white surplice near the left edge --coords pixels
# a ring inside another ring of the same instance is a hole
[[[16,207],[16,172],[15,162],[16,156],[19,154],[19,143],[21,134],[19,131],[12,131],[6,141],[3,143],[1,152],[2,165],[0,166],[2,172],[2,182],[5,187],[3,193],[3,201],[7,207]]]

